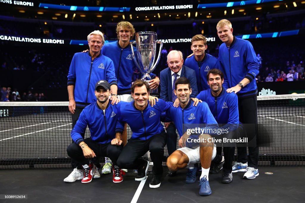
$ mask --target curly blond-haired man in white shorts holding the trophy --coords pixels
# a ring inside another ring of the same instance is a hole
[[[121,101],[131,102],[131,78],[136,65],[132,59],[130,40],[135,36],[133,25],[127,21],[117,23],[117,38],[115,42],[106,43],[102,48],[102,54],[109,57],[114,64],[115,74],[117,77],[118,94],[116,95]],[[134,47],[134,51],[136,48]],[[151,89],[157,89],[160,79],[155,74],[150,74],[152,80],[149,83]],[[114,94],[113,94],[114,95]],[[122,135],[123,144],[127,142],[127,125],[125,124]],[[106,158],[106,164],[102,173],[111,172],[111,160]]]

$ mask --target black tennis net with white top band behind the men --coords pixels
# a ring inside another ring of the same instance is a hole
[[[259,165],[303,166],[305,94],[258,96],[257,103]],[[1,102],[0,169],[69,168],[71,128],[68,102]]]

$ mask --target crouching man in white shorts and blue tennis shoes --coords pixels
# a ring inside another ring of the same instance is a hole
[[[188,168],[189,170],[185,182],[187,184],[192,184],[196,181],[197,167],[194,167],[194,165],[196,163],[201,163],[202,172],[200,176],[199,194],[203,196],[210,195],[212,194],[209,185],[211,161],[217,156],[217,160],[221,163],[224,161],[224,158],[220,155],[216,155],[216,147],[214,147],[214,143],[211,142],[210,135],[197,135],[192,138],[193,140],[196,138],[196,141],[199,140],[200,142],[192,142],[192,139],[190,139],[191,137],[187,132],[187,126],[206,124],[205,128],[217,129],[217,122],[207,103],[198,103],[197,107],[193,106],[193,101],[189,98],[192,93],[192,88],[190,87],[190,82],[187,78],[177,79],[174,93],[177,95],[180,107],[176,108],[171,106],[165,113],[165,120],[166,122],[174,121],[180,135],[179,146],[181,148],[174,151],[167,158],[167,167],[171,171]],[[162,115],[164,115],[164,113]]]

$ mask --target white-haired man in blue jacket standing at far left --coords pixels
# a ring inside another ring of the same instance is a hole
[[[81,111],[94,102],[95,83],[98,80],[107,80],[113,94],[117,94],[117,79],[115,77],[113,62],[101,54],[105,42],[102,32],[95,30],[88,36],[89,51],[74,54],[68,73],[69,110],[72,117],[72,128],[76,124]],[[117,103],[116,96],[111,96],[112,104]],[[84,137],[84,133],[82,133]],[[81,165],[72,159],[72,168]]]

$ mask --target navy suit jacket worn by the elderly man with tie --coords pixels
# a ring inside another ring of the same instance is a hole
[[[185,65],[182,65],[180,77],[185,77],[190,81],[190,85],[192,88],[192,94],[190,97],[195,98],[198,95],[195,71],[191,68],[186,67]],[[173,86],[172,86],[172,75],[170,68],[165,68],[163,71],[160,72],[160,84],[161,84],[160,99],[171,102],[172,94],[173,94]]]

